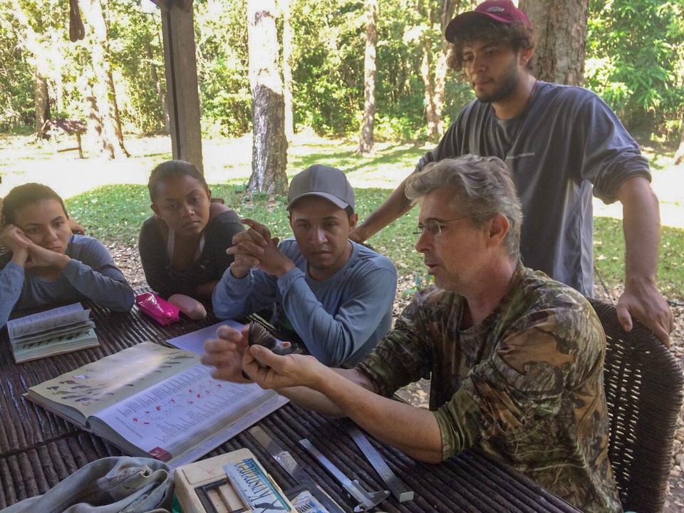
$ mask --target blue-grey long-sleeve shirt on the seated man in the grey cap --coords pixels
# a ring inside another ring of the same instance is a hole
[[[352,245],[346,264],[316,281],[296,241],[286,239],[279,247],[295,269],[280,278],[253,269],[242,279],[227,269],[214,289],[214,314],[240,318],[276,304],[274,324],[289,321],[311,355],[328,366],[356,365],[391,327],[397,270],[387,257]]]

